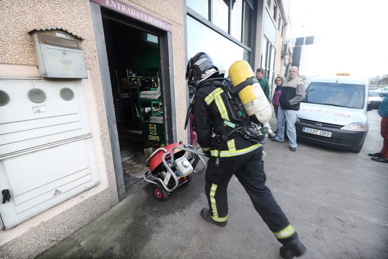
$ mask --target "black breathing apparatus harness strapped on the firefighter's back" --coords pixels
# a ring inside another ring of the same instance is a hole
[[[235,111],[235,112],[230,112],[229,119],[230,119],[230,122],[234,125],[237,125],[237,127],[235,127],[232,131],[228,132],[227,134],[216,135],[215,137],[213,137],[213,141],[221,142],[218,148],[218,154],[220,154],[220,151],[223,145],[225,144],[225,142],[229,141],[229,137],[235,132],[239,132],[245,139],[249,139],[250,141],[253,141],[255,143],[264,144],[266,142],[264,138],[265,134],[263,134],[263,132],[260,130],[262,123],[260,123],[257,119],[255,123],[252,122],[251,118],[246,113],[246,110],[244,109],[244,106],[242,105],[240,98],[238,97],[239,91],[244,89],[244,87],[248,85],[252,85],[253,83],[256,83],[256,82],[258,82],[258,80],[255,76],[247,78],[245,81],[239,83],[236,86],[233,86],[229,78],[223,78],[223,77],[209,78],[203,82],[199,80],[196,81],[194,85],[196,90],[206,85],[221,87],[222,90],[227,94],[226,95],[227,101],[225,102],[226,109],[228,111]],[[195,92],[192,98],[190,99],[189,109],[187,110],[185,129],[187,127],[187,123],[189,122],[189,116],[192,113],[194,96],[195,96]],[[193,125],[193,129],[195,130],[194,125]],[[217,156],[216,158],[215,166],[217,167],[220,166],[219,156]]]

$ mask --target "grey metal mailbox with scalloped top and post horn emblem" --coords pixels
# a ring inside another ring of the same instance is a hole
[[[62,27],[37,28],[29,34],[43,78],[88,78],[83,38]]]

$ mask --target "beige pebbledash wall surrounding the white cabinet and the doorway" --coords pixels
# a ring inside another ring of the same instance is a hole
[[[121,0],[172,24],[177,139],[187,140],[184,6],[182,0]],[[28,31],[62,26],[83,37],[88,79],[82,80],[100,184],[14,228],[0,225],[0,258],[33,258],[116,205],[118,191],[89,0],[0,0],[0,77],[40,77]],[[173,7],[173,8],[171,8]],[[171,64],[171,63],[170,63]],[[1,116],[1,115],[0,115]]]

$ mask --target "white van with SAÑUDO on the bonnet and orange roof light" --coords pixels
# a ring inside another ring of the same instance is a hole
[[[359,153],[368,132],[368,85],[352,76],[314,78],[306,87],[295,124],[297,139]]]

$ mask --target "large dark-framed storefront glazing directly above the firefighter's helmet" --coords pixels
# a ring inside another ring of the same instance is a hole
[[[187,0],[187,7],[188,58],[206,52],[219,69],[226,70],[226,75],[234,61],[251,61],[255,30],[252,0]],[[210,11],[208,21],[198,16],[206,16],[199,9]]]

